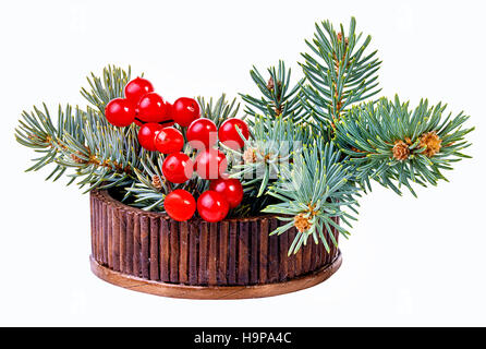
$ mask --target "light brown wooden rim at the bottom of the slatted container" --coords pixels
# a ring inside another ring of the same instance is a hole
[[[133,291],[184,299],[248,299],[284,294],[303,290],[328,279],[341,266],[341,253],[325,267],[284,282],[252,286],[187,286],[147,280],[107,268],[90,256],[93,273],[100,279]]]

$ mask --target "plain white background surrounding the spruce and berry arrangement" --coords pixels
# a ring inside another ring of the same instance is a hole
[[[486,325],[483,1],[2,1],[0,325]],[[162,96],[255,92],[248,71],[296,61],[314,22],[373,35],[382,95],[447,101],[476,125],[450,183],[397,196],[375,186],[328,281],[243,301],[157,298],[92,275],[88,196],[24,173],[23,109],[84,105],[107,63],[145,72]]]

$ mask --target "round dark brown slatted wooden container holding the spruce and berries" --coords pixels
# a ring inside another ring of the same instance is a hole
[[[93,273],[134,291],[190,299],[269,297],[323,282],[341,265],[338,249],[327,253],[312,239],[288,256],[295,230],[270,237],[281,224],[274,216],[179,222],[124,205],[106,190],[90,193],[90,210]]]

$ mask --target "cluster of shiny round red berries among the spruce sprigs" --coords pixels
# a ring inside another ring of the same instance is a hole
[[[197,198],[183,190],[170,192],[163,203],[167,214],[179,221],[190,219],[194,213],[207,221],[223,219],[230,208],[243,200],[243,186],[238,179],[226,174],[228,161],[224,154],[214,146],[218,139],[224,145],[238,149],[244,146],[241,134],[248,139],[247,124],[240,119],[228,119],[219,128],[206,118],[201,118],[199,106],[195,99],[182,97],[173,105],[154,92],[151,83],[142,77],[129,82],[124,89],[125,98],[112,99],[105,115],[111,124],[127,127],[135,122],[139,125],[138,142],[147,151],[158,151],[168,155],[162,163],[162,173],[169,182],[183,183],[193,172],[211,180],[209,190]],[[186,140],[191,147],[198,149],[193,160],[184,153],[184,136],[173,128],[177,123],[186,129]]]

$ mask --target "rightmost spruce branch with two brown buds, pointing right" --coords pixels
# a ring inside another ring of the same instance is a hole
[[[336,124],[335,141],[351,156],[355,180],[369,188],[369,180],[375,179],[399,194],[404,185],[415,195],[411,183],[436,185],[446,180],[442,169],[450,170],[452,163],[469,157],[461,153],[471,145],[464,136],[474,130],[462,128],[469,117],[461,112],[445,118],[445,105],[429,107],[422,100],[411,110],[398,97],[394,101],[381,98],[344,115]],[[393,148],[401,153],[394,156]]]

